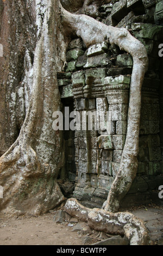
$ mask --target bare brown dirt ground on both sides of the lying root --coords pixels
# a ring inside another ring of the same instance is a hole
[[[145,221],[153,243],[163,245],[163,207],[139,206],[129,211]],[[56,213],[51,211],[38,217],[0,217],[0,245],[91,245],[101,240],[96,237],[97,231],[75,218],[55,223]]]

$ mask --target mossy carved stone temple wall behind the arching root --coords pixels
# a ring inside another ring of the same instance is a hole
[[[163,44],[163,1],[112,1],[99,8],[95,19],[126,27],[148,52],[149,68],[142,86],[139,167],[126,196],[130,203],[133,198],[140,203],[141,199],[150,200],[150,191],[163,185],[163,57],[158,54]],[[81,116],[83,111],[109,112],[109,134],[101,129],[76,130],[73,135],[69,133],[65,146],[65,178],[74,184],[73,196],[101,206],[120,166],[126,139],[133,60],[106,41],[87,49],[80,38],[72,39],[66,56],[65,72],[58,73],[64,106],[68,106],[68,100]]]

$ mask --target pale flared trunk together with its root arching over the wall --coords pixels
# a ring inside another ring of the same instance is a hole
[[[6,15],[5,10],[10,10],[11,15],[12,7],[10,6],[11,3],[8,2],[4,2],[3,15]],[[14,8],[16,3],[23,15],[29,16],[27,7],[22,7],[22,1],[13,1]],[[105,210],[115,212],[119,208],[121,199],[128,192],[137,170],[141,86],[143,76],[147,70],[145,47],[140,41],[131,36],[126,29],[106,26],[86,15],[68,13],[62,8],[58,0],[48,0],[47,2],[36,0],[36,5],[35,2],[32,3],[33,14],[31,16],[33,19],[36,16],[35,20],[38,27],[33,38],[36,45],[34,64],[30,62],[32,58],[29,56],[28,44],[26,46],[23,44],[22,47],[22,55],[23,57],[26,56],[26,66],[28,66],[28,70],[25,69],[26,74],[23,80],[24,88],[30,88],[26,95],[28,111],[24,113],[26,118],[23,121],[21,120],[23,125],[19,122],[20,134],[18,138],[0,159],[0,179],[1,186],[4,187],[4,198],[0,204],[1,210],[9,214],[28,213],[36,215],[54,208],[64,200],[57,184],[59,169],[62,167],[62,133],[53,131],[52,114],[54,111],[59,111],[61,106],[57,71],[61,71],[64,66],[65,50],[68,42],[64,35],[66,31],[70,32],[71,30],[72,34],[76,34],[83,39],[87,47],[108,40],[110,44],[118,45],[133,57],[134,66],[130,84],[126,144],[120,170],[112,184],[105,205]],[[42,11],[44,8],[46,9],[45,12]],[[6,19],[8,20],[9,17],[6,17]],[[16,19],[18,19],[17,14]],[[66,28],[65,31],[62,26]],[[9,29],[11,30],[10,26]],[[4,33],[3,25],[1,30],[1,33]],[[21,36],[23,42],[26,41],[25,35],[26,29],[23,28]],[[17,35],[15,34],[15,36]],[[8,59],[4,60],[6,65],[11,63],[12,51],[13,47],[8,53]],[[14,51],[16,51],[16,47]],[[32,70],[33,79],[31,82],[29,77]],[[9,74],[10,72],[5,76],[5,86],[7,80],[10,81],[11,79]],[[18,88],[20,88],[20,82],[20,78],[15,81]],[[5,90],[3,90],[4,99]],[[12,97],[14,97],[13,95]],[[2,108],[5,109],[5,100],[2,102]],[[10,120],[14,120],[14,116]],[[12,136],[10,135],[10,137]],[[13,138],[10,142],[12,140]]]

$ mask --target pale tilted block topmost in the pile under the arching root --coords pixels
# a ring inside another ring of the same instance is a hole
[[[108,50],[108,42],[101,42],[89,47],[87,57],[96,56]]]

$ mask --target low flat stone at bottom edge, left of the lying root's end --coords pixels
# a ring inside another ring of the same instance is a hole
[[[128,239],[122,238],[122,236],[117,235],[92,244],[92,246],[101,245],[129,245],[129,241]]]

